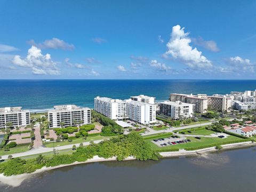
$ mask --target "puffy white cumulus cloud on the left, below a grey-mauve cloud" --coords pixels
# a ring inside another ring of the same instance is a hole
[[[59,75],[60,70],[57,68],[57,63],[52,61],[50,54],[42,54],[41,49],[36,46],[31,46],[28,50],[27,57],[21,58],[20,55],[15,55],[12,60],[14,65],[20,67],[31,68],[33,74],[41,75]]]

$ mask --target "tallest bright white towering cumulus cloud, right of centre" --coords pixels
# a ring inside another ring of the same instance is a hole
[[[185,33],[185,28],[181,28],[179,25],[172,28],[170,41],[166,44],[167,51],[163,54],[164,58],[169,58],[169,55],[173,59],[177,59],[185,63],[190,68],[211,68],[212,62],[208,60],[201,51],[197,48],[191,47],[191,39],[189,33]]]

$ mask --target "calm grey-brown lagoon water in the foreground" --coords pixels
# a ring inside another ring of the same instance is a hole
[[[126,161],[62,167],[0,191],[255,191],[256,147],[159,162]]]

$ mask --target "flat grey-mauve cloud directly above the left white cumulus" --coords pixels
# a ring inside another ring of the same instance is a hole
[[[73,44],[66,43],[65,41],[55,37],[52,39],[46,39],[43,43],[36,43],[34,39],[31,39],[28,41],[28,44],[39,47],[40,49],[62,49],[71,51],[75,48]]]

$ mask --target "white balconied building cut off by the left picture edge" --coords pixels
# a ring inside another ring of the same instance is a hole
[[[6,123],[12,123],[13,127],[30,125],[29,110],[21,107],[0,108],[0,128],[6,129]]]

